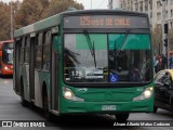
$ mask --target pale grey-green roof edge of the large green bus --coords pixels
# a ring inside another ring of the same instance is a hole
[[[43,30],[49,27],[55,27],[61,23],[62,15],[81,15],[81,14],[117,14],[117,15],[138,15],[148,16],[146,13],[134,12],[134,11],[123,11],[123,10],[76,10],[66,11],[59,14],[53,15],[51,17],[44,18],[31,25],[25,26],[23,28],[16,29],[14,31],[14,37],[21,37],[23,35],[31,34],[35,31]]]

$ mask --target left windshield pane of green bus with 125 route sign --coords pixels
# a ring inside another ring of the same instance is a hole
[[[84,35],[65,35],[64,72],[66,74],[64,76],[66,81],[107,82],[107,36],[103,34],[89,35],[91,44]]]

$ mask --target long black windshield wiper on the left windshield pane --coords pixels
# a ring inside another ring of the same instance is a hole
[[[89,36],[88,30],[83,30],[83,32],[84,32],[84,36],[86,38],[91,55],[92,55],[92,57],[94,57],[94,65],[95,65],[95,68],[96,68],[96,57],[95,57],[95,44],[94,44],[94,41],[93,41],[93,44],[92,44],[91,38]]]

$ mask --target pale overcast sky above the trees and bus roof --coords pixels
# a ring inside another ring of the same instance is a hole
[[[2,0],[4,2],[10,2],[11,0]],[[15,1],[15,0],[12,0]],[[84,9],[108,9],[108,0],[76,0],[84,5]]]

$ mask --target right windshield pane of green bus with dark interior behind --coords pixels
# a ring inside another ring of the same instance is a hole
[[[148,35],[111,34],[108,39],[110,73],[118,81],[151,80]]]

